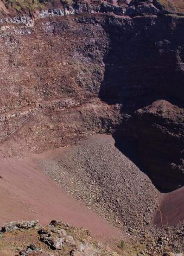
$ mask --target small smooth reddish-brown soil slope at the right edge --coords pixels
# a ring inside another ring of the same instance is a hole
[[[161,202],[160,211],[155,215],[154,223],[161,226],[161,216],[163,225],[173,226],[184,221],[184,187],[166,194]]]

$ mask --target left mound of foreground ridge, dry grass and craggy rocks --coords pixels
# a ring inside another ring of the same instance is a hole
[[[30,226],[30,223],[32,221],[27,221],[27,225]],[[3,237],[0,237],[0,242],[3,244],[0,247],[0,253],[2,251],[6,253],[8,250],[11,255],[17,255],[16,246],[21,241],[20,246],[23,249],[18,251],[21,256],[96,256],[97,254],[99,256],[118,256],[118,253],[112,251],[106,245],[95,241],[88,230],[69,226],[69,224],[62,221],[52,221],[48,226],[37,227],[32,229],[31,232],[28,232],[25,228],[22,229],[22,224],[21,229],[16,229],[16,232],[14,230],[9,229],[9,234],[3,233]],[[11,237],[14,247],[9,248],[9,237]],[[29,244],[30,241],[34,241],[34,244],[31,243],[24,248],[25,244]],[[46,246],[45,243],[49,246]]]

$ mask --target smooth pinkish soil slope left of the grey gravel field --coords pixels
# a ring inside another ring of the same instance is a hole
[[[84,227],[95,239],[112,241],[121,231],[66,195],[30,158],[0,159],[0,225],[13,220],[60,219]]]

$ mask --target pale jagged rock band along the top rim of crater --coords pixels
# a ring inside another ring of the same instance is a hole
[[[35,12],[32,10],[34,6],[30,6],[29,12],[28,10],[24,10],[23,14],[22,12],[19,15],[14,13],[15,16],[5,12],[6,15],[0,19],[0,23],[34,26],[35,20],[40,18],[97,13],[129,17],[165,14],[184,15],[184,12],[177,12],[176,8],[173,8],[173,10],[167,9],[167,6],[161,4],[159,0],[127,0],[123,2],[121,0],[75,0],[71,3],[67,3],[67,1],[63,1],[63,3],[57,2],[57,4],[51,5],[49,8],[50,4],[50,1],[48,1],[45,8],[35,10]]]

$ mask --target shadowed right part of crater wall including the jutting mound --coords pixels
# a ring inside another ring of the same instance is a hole
[[[119,147],[127,139],[135,143],[139,159],[136,164],[150,175],[159,189],[170,191],[184,182],[184,38],[180,37],[181,41],[177,43],[174,39],[181,31],[179,23],[182,19],[174,18],[174,21],[171,18],[171,23],[170,17],[166,18],[167,21],[165,18],[148,19],[150,25],[143,22],[142,29],[140,22],[134,19],[133,23],[131,21],[131,33],[128,32],[129,25],[123,26],[124,30],[118,26],[111,33],[111,49],[104,58],[105,72],[99,96],[110,104],[121,104],[122,124],[114,134],[116,145]],[[163,21],[167,25],[162,30]],[[176,30],[173,27],[175,22],[178,24]],[[110,26],[107,31],[112,32]],[[118,36],[122,36],[121,40]],[[158,99],[169,102],[163,104],[159,117],[158,113],[147,113]],[[141,113],[139,109],[142,109]],[[130,154],[128,156],[131,157]]]

